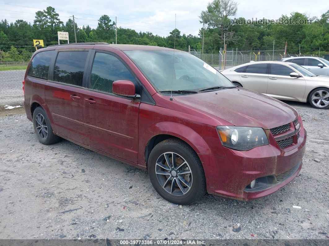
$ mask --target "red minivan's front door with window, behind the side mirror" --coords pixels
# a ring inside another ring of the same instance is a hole
[[[139,101],[112,93],[115,80],[137,85],[135,77],[109,52],[95,52],[90,67],[88,97],[82,100],[89,146],[137,163]]]

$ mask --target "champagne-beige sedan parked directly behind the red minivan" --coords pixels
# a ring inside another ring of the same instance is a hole
[[[220,71],[235,85],[279,99],[329,107],[329,77],[291,62],[257,61]]]

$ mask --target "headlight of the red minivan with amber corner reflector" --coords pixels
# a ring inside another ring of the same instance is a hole
[[[217,126],[223,146],[236,150],[249,150],[268,145],[263,128],[246,126]]]

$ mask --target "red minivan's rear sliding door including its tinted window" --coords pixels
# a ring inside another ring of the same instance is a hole
[[[45,100],[54,119],[56,131],[86,144],[83,107],[86,91],[84,71],[89,51],[60,51],[54,74],[46,83]]]

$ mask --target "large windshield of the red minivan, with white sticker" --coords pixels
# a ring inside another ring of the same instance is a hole
[[[125,53],[159,92],[195,93],[236,87],[215,68],[186,52],[130,50]]]

